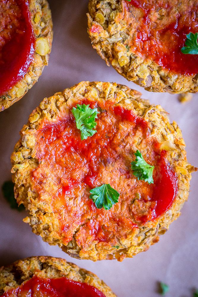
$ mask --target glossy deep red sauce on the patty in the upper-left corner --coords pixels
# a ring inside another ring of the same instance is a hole
[[[0,1],[0,95],[24,78],[35,40],[28,1]]]

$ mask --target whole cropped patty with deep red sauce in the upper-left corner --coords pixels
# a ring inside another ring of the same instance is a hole
[[[48,64],[52,39],[47,0],[0,2],[0,111],[38,80]]]

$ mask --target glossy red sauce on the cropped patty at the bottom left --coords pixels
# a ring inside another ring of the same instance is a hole
[[[66,277],[41,278],[34,276],[18,288],[8,290],[1,297],[105,297],[104,293],[86,283]]]

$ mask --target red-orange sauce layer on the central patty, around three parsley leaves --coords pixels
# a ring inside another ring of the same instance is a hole
[[[86,140],[80,139],[72,107],[56,123],[43,121],[37,131],[39,166],[32,172],[33,190],[40,199],[45,200],[46,194],[51,199],[48,203],[58,216],[62,226],[59,233],[64,234],[65,243],[81,225],[76,234],[79,246],[86,246],[92,240],[117,245],[116,236],[126,238],[126,234],[135,232],[137,221],[156,219],[171,207],[178,189],[177,178],[169,168],[166,154],[160,156],[156,139],[150,137],[149,123],[132,110],[88,99],[77,104],[98,108],[97,133]],[[154,185],[137,181],[131,170],[127,155],[132,154],[131,146],[138,137],[144,139],[148,148],[150,157],[146,162],[155,166]],[[108,175],[110,179],[105,179]],[[52,188],[48,188],[49,180]],[[89,199],[90,189],[104,183],[110,183],[121,194],[118,203],[107,211],[97,209]],[[150,203],[147,217],[131,210],[136,192],[141,193],[142,207]]]

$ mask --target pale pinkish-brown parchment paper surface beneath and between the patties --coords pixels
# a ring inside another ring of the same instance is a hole
[[[126,84],[142,97],[160,104],[177,121],[186,142],[188,161],[198,167],[198,94],[182,105],[178,95],[151,93],[128,82],[98,56],[87,33],[88,0],[49,0],[54,23],[54,40],[49,66],[31,90],[9,109],[0,113],[0,186],[11,179],[10,155],[28,116],[45,97],[82,80]],[[86,268],[101,279],[118,297],[157,297],[157,282],[170,286],[167,297],[190,297],[198,289],[198,173],[193,173],[189,200],[179,219],[161,236],[159,243],[122,263],[116,260],[77,260],[50,246],[31,232],[22,219],[26,211],[10,209],[0,191],[0,265],[33,255],[62,257]]]

